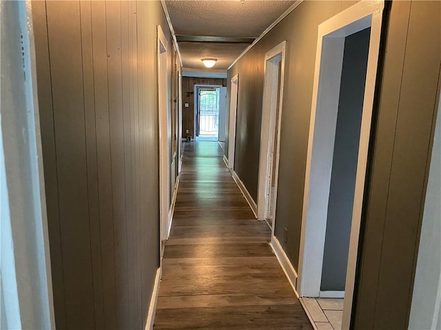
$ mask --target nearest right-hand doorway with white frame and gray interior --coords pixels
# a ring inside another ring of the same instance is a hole
[[[296,288],[334,329],[351,320],[383,8],[361,1],[318,28]]]

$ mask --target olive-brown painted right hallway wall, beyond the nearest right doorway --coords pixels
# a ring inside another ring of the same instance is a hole
[[[228,71],[227,104],[229,104],[231,79],[235,74],[239,74],[234,169],[254,201],[257,201],[265,53],[282,41],[287,41],[275,234],[296,270],[300,247],[317,29],[320,23],[353,3],[356,1],[302,2]],[[227,118],[227,126],[228,124]],[[227,131],[228,129],[229,127]],[[225,141],[229,144],[228,136]],[[227,153],[226,146],[225,154]],[[287,243],[283,240],[284,228],[288,230]]]

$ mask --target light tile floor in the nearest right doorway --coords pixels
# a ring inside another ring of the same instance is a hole
[[[302,298],[318,330],[341,330],[343,299]]]

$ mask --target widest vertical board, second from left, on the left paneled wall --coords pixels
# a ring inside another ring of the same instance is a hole
[[[80,8],[79,2],[65,3],[65,16],[57,2],[46,8],[66,327],[94,327]]]

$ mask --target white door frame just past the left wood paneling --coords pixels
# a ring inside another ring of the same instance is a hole
[[[160,214],[160,253],[163,241],[169,236],[169,211],[170,211],[170,155],[168,150],[168,50],[167,39],[161,28],[157,25],[157,69],[158,69],[158,125],[159,125],[159,214]]]

